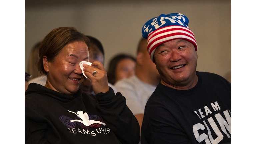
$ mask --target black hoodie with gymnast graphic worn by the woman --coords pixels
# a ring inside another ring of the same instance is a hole
[[[25,93],[26,143],[137,144],[140,127],[121,93],[73,96],[31,83]]]

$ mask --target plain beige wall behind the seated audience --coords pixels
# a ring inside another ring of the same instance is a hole
[[[25,69],[33,45],[51,30],[73,26],[99,39],[105,50],[105,69],[118,53],[136,55],[143,25],[160,14],[183,13],[197,44],[197,71],[224,76],[231,71],[230,0],[75,0],[25,3]]]

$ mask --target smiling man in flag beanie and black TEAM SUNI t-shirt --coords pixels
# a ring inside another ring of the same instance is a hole
[[[149,98],[142,144],[231,142],[231,84],[196,71],[197,43],[181,13],[161,14],[142,28],[161,81]]]

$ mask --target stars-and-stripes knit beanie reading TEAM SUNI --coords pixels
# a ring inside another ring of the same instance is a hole
[[[142,28],[142,37],[147,39],[147,50],[151,60],[155,63],[154,53],[156,48],[165,42],[175,39],[185,39],[195,46],[196,39],[188,27],[188,18],[182,13],[161,14],[152,18]]]

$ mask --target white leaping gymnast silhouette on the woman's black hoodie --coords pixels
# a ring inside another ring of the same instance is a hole
[[[72,112],[72,111],[69,111],[69,112]],[[76,122],[81,122],[86,126],[89,126],[89,125],[94,124],[94,123],[99,123],[99,124],[106,125],[105,123],[103,123],[101,121],[89,120],[89,116],[86,112],[84,113],[83,111],[78,111],[77,113],[75,113],[75,112],[72,112],[72,113],[76,114],[82,120],[70,120],[70,122],[75,122],[75,121]]]

